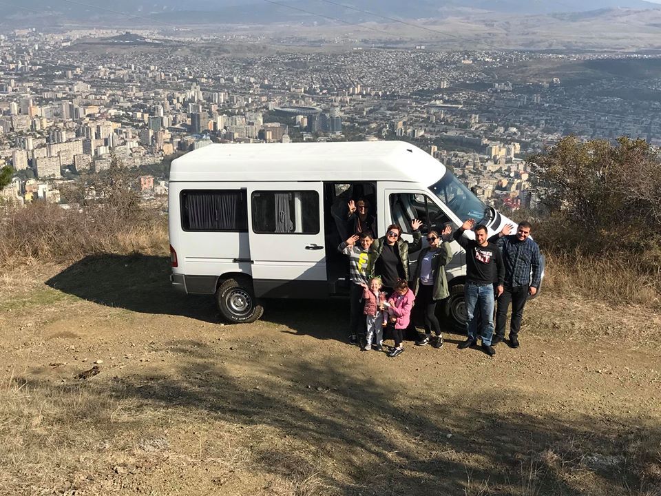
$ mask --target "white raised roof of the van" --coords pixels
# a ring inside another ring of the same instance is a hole
[[[214,144],[176,158],[170,181],[398,180],[431,185],[445,165],[403,141]]]

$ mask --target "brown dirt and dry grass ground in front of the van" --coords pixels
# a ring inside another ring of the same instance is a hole
[[[661,494],[658,315],[547,294],[520,349],[391,359],[344,302],[220,326],[162,258],[47,271],[0,294],[0,493]]]

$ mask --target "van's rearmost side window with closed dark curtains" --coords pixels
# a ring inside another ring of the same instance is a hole
[[[244,189],[185,189],[180,205],[184,231],[248,232]]]

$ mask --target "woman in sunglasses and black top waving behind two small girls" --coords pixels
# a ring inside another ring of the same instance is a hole
[[[388,294],[395,289],[398,279],[408,281],[408,254],[418,251],[422,245],[420,226],[422,222],[418,219],[411,221],[413,231],[413,242],[409,243],[401,239],[401,227],[397,224],[388,226],[386,236],[375,240],[370,255],[370,266],[368,275],[379,276],[384,282],[384,291]]]

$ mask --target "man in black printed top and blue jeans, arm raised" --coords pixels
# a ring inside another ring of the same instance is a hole
[[[505,267],[501,251],[494,243],[487,240],[487,228],[483,225],[475,227],[475,239],[469,240],[463,237],[463,231],[472,229],[475,221],[466,220],[457,231],[454,239],[466,251],[466,285],[464,298],[466,302],[466,333],[468,339],[459,344],[459,349],[473,346],[477,342],[477,317],[482,321],[481,338],[482,349],[489,356],[496,354],[491,345],[494,334],[494,281],[497,281],[496,293],[503,293],[503,280],[505,279]],[[479,308],[476,315],[475,309]]]

